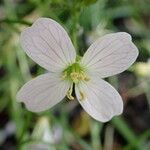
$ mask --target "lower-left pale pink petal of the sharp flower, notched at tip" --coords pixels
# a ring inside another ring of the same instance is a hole
[[[69,87],[70,83],[56,74],[47,73],[27,82],[17,93],[17,100],[24,102],[28,110],[40,112],[60,102]]]

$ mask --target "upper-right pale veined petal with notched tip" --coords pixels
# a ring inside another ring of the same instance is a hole
[[[125,32],[107,34],[94,42],[81,60],[89,72],[101,78],[126,70],[138,56],[138,49],[131,36]]]

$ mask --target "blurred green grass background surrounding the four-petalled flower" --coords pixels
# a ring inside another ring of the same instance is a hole
[[[80,55],[104,34],[132,35],[136,63],[107,79],[124,100],[121,116],[104,124],[76,100],[38,114],[16,102],[18,89],[45,72],[19,43],[20,32],[42,16],[63,25]],[[0,150],[149,150],[149,108],[150,0],[0,1]]]

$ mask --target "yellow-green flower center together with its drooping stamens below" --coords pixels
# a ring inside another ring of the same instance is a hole
[[[72,65],[68,66],[63,72],[61,76],[62,80],[69,80],[74,84],[79,84],[81,81],[89,81],[90,78],[86,75],[85,69],[80,66],[78,62],[73,63]],[[67,97],[70,100],[73,100],[74,97],[72,96],[73,91],[73,84],[67,91]],[[80,91],[80,100],[85,99],[85,94]]]

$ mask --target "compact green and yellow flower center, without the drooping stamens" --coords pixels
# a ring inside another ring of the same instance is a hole
[[[68,66],[62,73],[63,80],[70,80],[77,84],[80,81],[89,81],[89,77],[85,74],[85,69],[79,63],[73,63]]]

